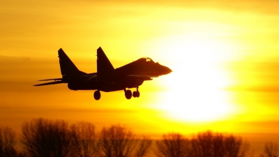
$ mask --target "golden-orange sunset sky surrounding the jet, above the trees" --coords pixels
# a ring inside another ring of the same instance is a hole
[[[279,141],[279,1],[0,1],[0,126],[43,117],[137,134],[213,130]],[[58,50],[96,72],[140,57],[173,70],[123,91],[33,87],[61,77]],[[134,90],[134,89],[133,89]],[[132,90],[132,91],[133,91]]]

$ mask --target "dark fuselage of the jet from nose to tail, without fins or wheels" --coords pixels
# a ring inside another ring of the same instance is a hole
[[[98,73],[77,77],[68,82],[68,88],[72,90],[100,90],[105,92],[120,91],[126,88],[139,87],[144,81],[152,80],[150,77],[158,77],[171,71],[166,66],[154,63],[149,58],[142,58],[116,68],[108,77],[101,77]]]

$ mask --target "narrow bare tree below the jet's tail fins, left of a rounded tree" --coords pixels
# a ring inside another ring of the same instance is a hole
[[[72,156],[89,157],[97,152],[95,127],[88,122],[80,122],[70,127],[73,133]]]

